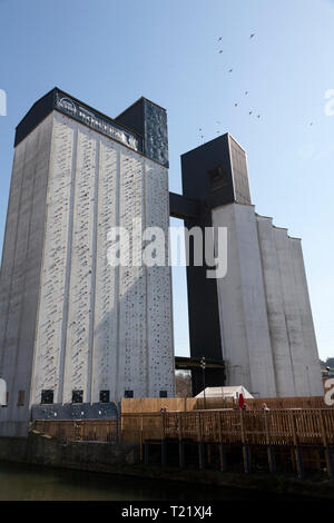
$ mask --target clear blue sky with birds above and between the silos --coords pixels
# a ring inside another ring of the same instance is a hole
[[[115,117],[146,96],[168,110],[170,190],[180,155],[202,141],[228,131],[246,149],[256,210],[303,238],[320,354],[334,356],[333,27],[331,0],[0,0],[0,244],[14,127],[30,106],[58,86]],[[180,268],[174,300],[186,355]]]

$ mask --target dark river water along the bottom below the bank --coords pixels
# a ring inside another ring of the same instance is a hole
[[[265,494],[239,489],[56,470],[0,462],[3,501],[247,501]]]

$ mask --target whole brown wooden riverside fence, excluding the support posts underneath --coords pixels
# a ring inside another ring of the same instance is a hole
[[[37,421],[33,430],[62,441],[143,443],[187,440],[256,445],[333,445],[334,409],[191,411],[122,414],[116,420]]]

